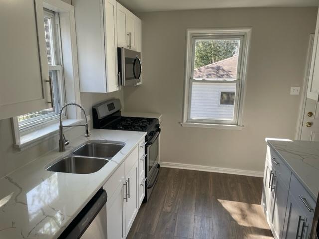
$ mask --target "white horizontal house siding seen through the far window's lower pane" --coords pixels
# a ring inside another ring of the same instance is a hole
[[[236,84],[193,83],[190,117],[232,120],[234,105],[220,105],[220,92],[236,92]]]

